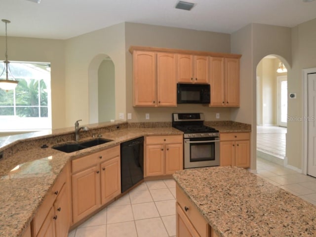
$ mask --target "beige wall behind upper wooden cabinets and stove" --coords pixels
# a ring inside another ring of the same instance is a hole
[[[132,114],[130,121],[171,121],[173,112],[202,112],[206,120],[216,120],[215,113],[220,113],[218,120],[230,120],[231,109],[209,108],[202,105],[178,105],[172,108],[133,107],[132,91],[132,55],[128,49],[131,45],[166,47],[175,49],[227,52],[230,50],[230,35],[214,32],[196,31],[173,27],[125,23],[126,52],[126,113]],[[145,119],[145,114],[150,119]]]

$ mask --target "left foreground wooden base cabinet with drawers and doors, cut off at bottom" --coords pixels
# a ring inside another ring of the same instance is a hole
[[[32,220],[34,237],[67,237],[70,227],[69,164],[66,165]]]

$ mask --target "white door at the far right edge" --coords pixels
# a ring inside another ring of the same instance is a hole
[[[307,174],[316,177],[316,73],[307,77]]]

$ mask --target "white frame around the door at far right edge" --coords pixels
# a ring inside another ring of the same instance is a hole
[[[302,96],[303,96],[303,116],[307,118],[308,116],[308,94],[307,94],[307,79],[308,74],[316,73],[316,68],[308,68],[302,70]],[[306,119],[303,120],[303,139],[302,139],[302,148],[303,148],[303,164],[302,164],[302,171],[303,174],[307,174],[307,155],[308,155],[308,121]]]

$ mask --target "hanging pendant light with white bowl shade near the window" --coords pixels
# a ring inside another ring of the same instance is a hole
[[[0,78],[2,76],[2,74],[4,73],[5,71],[5,79],[0,79],[0,89],[3,89],[3,90],[13,90],[17,84],[19,83],[18,81],[14,80],[14,77],[10,71],[10,67],[9,67],[9,61],[8,61],[8,45],[7,45],[7,30],[6,30],[6,24],[7,23],[10,23],[10,21],[8,20],[4,20],[2,19],[2,22],[5,23],[5,61],[3,61],[4,63],[4,68],[3,68],[3,71],[0,75]],[[11,75],[12,77],[12,80],[9,80],[9,74]]]

